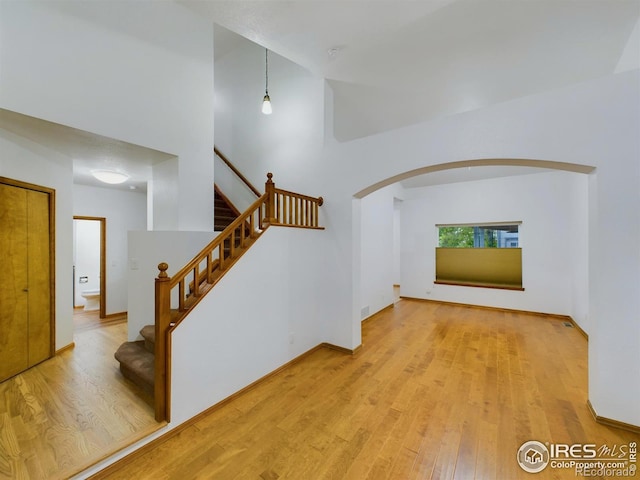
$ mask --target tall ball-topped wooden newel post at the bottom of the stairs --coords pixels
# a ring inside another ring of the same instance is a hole
[[[156,278],[156,344],[155,344],[155,384],[153,390],[156,421],[168,420],[167,411],[167,330],[171,324],[171,278],[167,275],[169,265],[158,265]]]

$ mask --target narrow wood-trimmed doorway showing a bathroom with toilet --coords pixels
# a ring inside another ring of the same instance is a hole
[[[107,303],[106,223],[104,217],[73,217],[74,312],[90,310],[97,300],[101,319],[106,317]]]

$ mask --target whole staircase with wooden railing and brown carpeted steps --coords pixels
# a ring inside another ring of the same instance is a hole
[[[267,174],[265,193],[243,213],[215,187],[215,229],[223,228],[187,265],[169,277],[169,265],[158,265],[155,280],[155,325],[140,330],[144,340],[126,342],[115,358],[122,375],[153,397],[156,420],[170,421],[171,343],[164,341],[243,254],[270,226],[311,228],[318,225],[322,197],[276,188]],[[226,225],[226,226],[224,226]],[[156,342],[156,336],[159,341]]]

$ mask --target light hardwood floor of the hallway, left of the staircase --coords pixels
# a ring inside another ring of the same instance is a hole
[[[126,317],[91,315],[75,348],[0,383],[0,479],[69,478],[160,427],[113,358]]]

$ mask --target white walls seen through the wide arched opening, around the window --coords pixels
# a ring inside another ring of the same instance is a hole
[[[358,320],[392,304],[398,257],[392,248],[399,242],[402,296],[543,311],[588,322],[589,179],[594,172],[591,166],[556,161],[463,160],[403,172],[357,192],[354,268],[359,274],[354,276],[353,311],[360,313]],[[419,199],[423,193],[428,200]],[[400,240],[393,238],[398,199],[403,200]],[[434,286],[436,224],[514,220],[524,220],[526,292]]]

